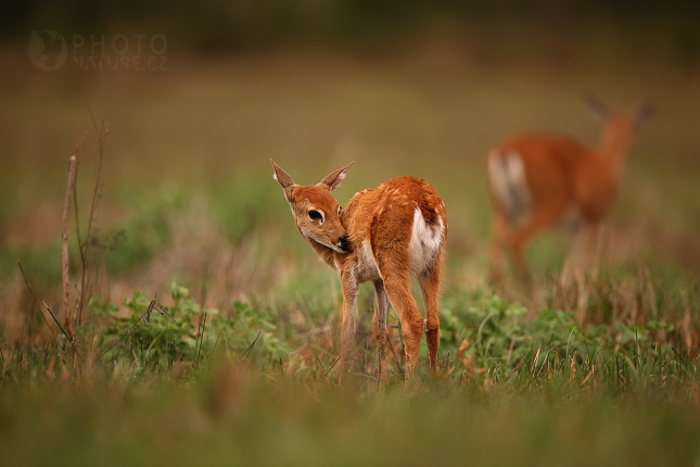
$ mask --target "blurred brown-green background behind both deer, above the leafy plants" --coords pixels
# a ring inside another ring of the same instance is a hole
[[[698,18],[691,1],[4,2],[0,275],[15,283],[20,257],[42,287],[59,285],[76,137],[84,226],[97,173],[87,102],[111,131],[96,225],[103,242],[118,241],[100,260],[115,280],[104,293],[167,290],[173,277],[208,283],[234,264],[240,277],[221,288],[267,296],[319,270],[270,157],[303,184],[356,161],[341,204],[394,176],[428,179],[449,213],[447,283],[476,287],[488,148],[526,129],[595,143],[600,125],[580,99],[593,92],[613,108],[658,109],[636,138],[603,265],[693,283]],[[33,65],[35,31],[65,40],[56,71]],[[542,278],[564,251],[545,236],[529,256]],[[319,274],[327,285],[332,273]]]

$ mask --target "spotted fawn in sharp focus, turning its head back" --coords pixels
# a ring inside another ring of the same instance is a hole
[[[284,189],[302,237],[333,267],[343,291],[341,379],[349,369],[355,333],[358,286],[374,285],[372,331],[377,340],[379,379],[386,375],[387,299],[398,314],[404,336],[406,380],[412,376],[423,328],[430,369],[437,369],[440,319],[437,292],[447,238],[447,214],[437,192],[425,180],[392,178],[374,189],[355,193],[344,210],[331,195],[353,163],[319,184],[296,185],[272,160],[275,178]],[[410,292],[417,277],[425,307],[423,320]]]

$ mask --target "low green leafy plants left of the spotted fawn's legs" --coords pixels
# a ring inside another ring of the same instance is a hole
[[[103,358],[127,358],[144,369],[171,368],[183,362],[198,369],[217,350],[228,350],[256,364],[288,358],[290,349],[275,336],[276,325],[269,311],[256,310],[236,302],[231,317],[216,308],[202,310],[189,290],[170,283],[171,306],[151,300],[135,291],[125,301],[131,312],[126,318],[115,317],[106,326],[106,350]],[[113,313],[114,307],[103,307]]]

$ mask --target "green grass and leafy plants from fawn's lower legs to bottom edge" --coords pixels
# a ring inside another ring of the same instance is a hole
[[[336,354],[336,345],[296,339],[302,329],[244,304],[229,318],[206,311],[203,328],[204,311],[187,290],[173,285],[171,295],[162,308],[169,329],[155,311],[150,326],[137,321],[148,299],[136,294],[130,317],[92,316],[79,355],[64,340],[3,343],[3,458],[12,465],[671,466],[692,465],[700,455],[699,362],[671,342],[654,342],[658,324],[634,331],[618,324],[616,336],[604,326],[583,331],[569,313],[545,310],[527,320],[521,305],[450,294],[440,377],[433,380],[421,364],[406,386],[395,359],[380,390],[371,345],[356,355],[368,364],[356,365],[355,377],[339,387],[324,356]],[[462,339],[471,343],[457,356]]]

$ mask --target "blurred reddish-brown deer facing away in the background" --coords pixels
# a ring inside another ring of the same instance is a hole
[[[575,235],[572,260],[580,275],[590,239],[615,199],[633,134],[653,110],[611,112],[593,97],[585,102],[602,119],[598,147],[559,135],[525,132],[496,144],[487,171],[494,206],[491,276],[502,283],[502,251],[510,251],[522,277],[527,241],[543,229],[561,226]],[[565,274],[565,272],[564,272]]]

